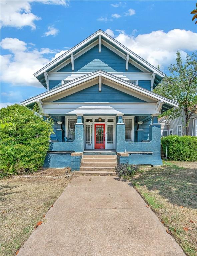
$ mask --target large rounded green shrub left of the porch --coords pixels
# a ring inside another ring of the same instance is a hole
[[[1,120],[7,119],[11,125],[1,127],[1,177],[37,171],[49,148],[52,122],[17,104],[1,109]]]

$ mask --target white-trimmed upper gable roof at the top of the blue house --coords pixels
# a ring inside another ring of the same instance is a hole
[[[98,41],[98,43],[99,43],[99,35],[101,36],[101,40],[104,40],[106,43],[111,45],[112,48],[114,48],[115,50],[122,53],[125,56],[125,58],[126,58],[127,54],[129,54],[130,60],[132,60],[136,64],[140,65],[141,67],[147,69],[148,71],[155,73],[154,86],[156,86],[165,77],[165,74],[162,71],[158,70],[156,67],[154,67],[153,65],[148,63],[146,60],[144,60],[143,58],[141,58],[140,56],[138,56],[137,54],[135,54],[134,52],[129,50],[127,47],[125,47],[124,45],[119,43],[117,40],[115,40],[114,38],[112,38],[111,36],[106,34],[101,29],[96,31],[94,34],[92,34],[91,36],[89,36],[88,38],[86,38],[85,40],[83,40],[82,42],[80,42],[79,44],[77,44],[76,46],[74,46],[73,48],[71,48],[70,50],[68,50],[61,56],[59,56],[58,58],[56,58],[53,61],[51,61],[50,63],[48,63],[42,69],[38,70],[34,74],[34,76],[39,80],[39,82],[41,82],[44,85],[44,87],[46,87],[44,72],[51,71],[52,69],[59,66],[66,60],[70,59],[71,54],[72,55],[77,54],[78,52],[80,52],[81,50],[86,48],[88,45],[90,45],[96,41]]]

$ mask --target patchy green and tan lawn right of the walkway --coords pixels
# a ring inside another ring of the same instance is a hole
[[[138,193],[189,256],[197,255],[197,163],[167,161],[132,179]],[[181,206],[181,208],[180,208]],[[183,206],[183,207],[182,207]],[[184,231],[187,226],[193,230]]]

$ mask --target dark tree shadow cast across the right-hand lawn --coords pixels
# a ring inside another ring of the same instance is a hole
[[[115,179],[125,181],[122,178]],[[133,185],[146,186],[149,192],[157,191],[177,206],[197,208],[197,169],[176,165],[154,167],[132,178],[131,182]]]

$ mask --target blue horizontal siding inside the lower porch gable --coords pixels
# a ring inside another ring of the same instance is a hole
[[[110,86],[102,84],[99,92],[98,84],[75,92],[54,102],[145,102],[132,95],[121,92]]]

